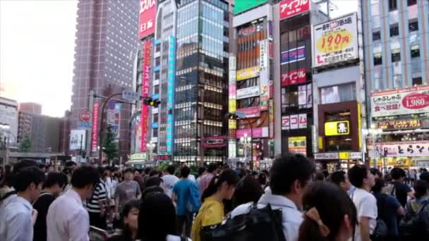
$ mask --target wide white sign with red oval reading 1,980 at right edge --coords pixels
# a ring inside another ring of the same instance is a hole
[[[394,89],[371,94],[373,117],[429,112],[429,85]]]

